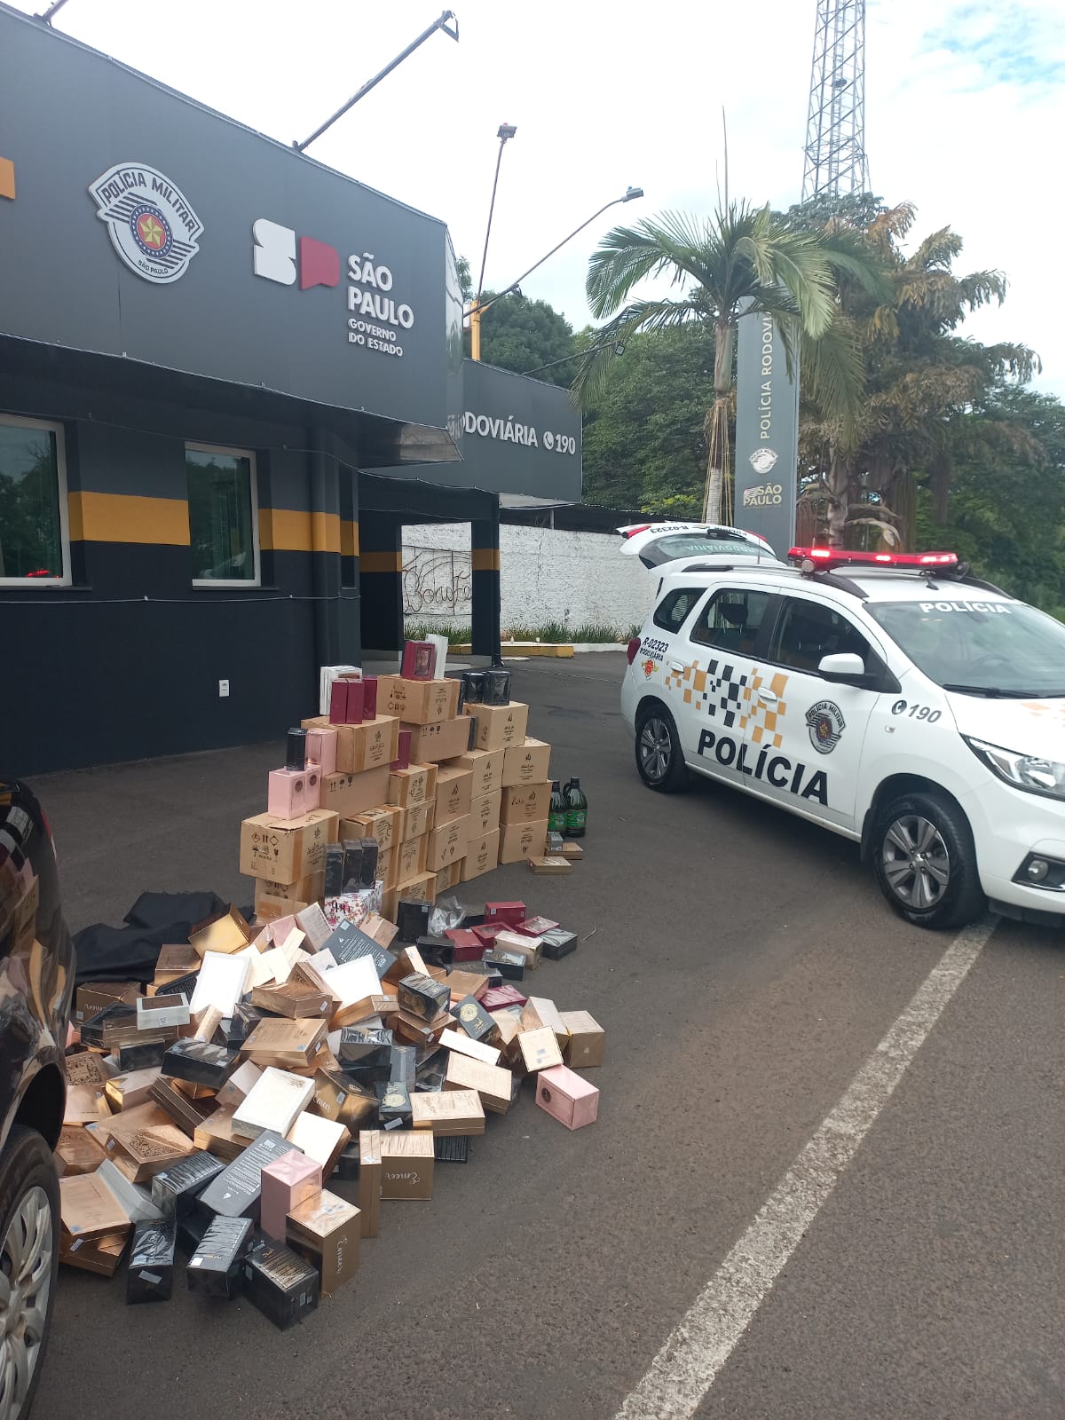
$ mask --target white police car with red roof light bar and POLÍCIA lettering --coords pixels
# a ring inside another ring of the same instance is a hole
[[[643,782],[689,770],[872,859],[910,922],[1065,919],[1065,626],[953,552],[662,565],[622,714]]]

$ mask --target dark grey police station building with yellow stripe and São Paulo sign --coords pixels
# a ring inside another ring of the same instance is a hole
[[[275,737],[399,650],[409,523],[471,524],[490,655],[579,435],[463,359],[442,222],[0,4],[4,771]]]

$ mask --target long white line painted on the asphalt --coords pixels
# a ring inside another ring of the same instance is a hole
[[[615,1420],[687,1420],[694,1413],[995,926],[991,919],[966,927],[947,947]]]

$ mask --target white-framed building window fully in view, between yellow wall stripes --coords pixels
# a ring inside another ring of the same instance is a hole
[[[193,586],[258,586],[256,456],[186,444]]]

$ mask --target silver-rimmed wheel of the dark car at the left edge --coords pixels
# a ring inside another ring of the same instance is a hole
[[[60,1186],[44,1139],[11,1127],[0,1157],[0,1420],[30,1414],[60,1267]]]

